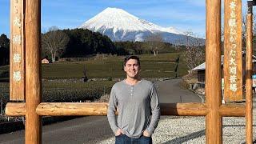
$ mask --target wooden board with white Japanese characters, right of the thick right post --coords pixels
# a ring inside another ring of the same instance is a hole
[[[242,1],[225,0],[224,100],[242,101]]]

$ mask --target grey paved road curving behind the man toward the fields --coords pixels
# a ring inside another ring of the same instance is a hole
[[[196,94],[180,88],[180,81],[181,79],[173,79],[156,82],[160,102],[201,102],[201,99]],[[113,137],[113,134],[106,116],[75,118],[70,121],[42,127],[42,143],[47,144],[90,144],[110,137]],[[24,130],[1,134],[0,143],[24,143]]]

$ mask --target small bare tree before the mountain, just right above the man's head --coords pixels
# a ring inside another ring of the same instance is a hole
[[[149,49],[154,53],[154,56],[158,54],[159,50],[163,48],[163,39],[161,34],[151,34],[146,38],[146,49]]]

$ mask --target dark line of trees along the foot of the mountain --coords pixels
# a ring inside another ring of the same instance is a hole
[[[0,65],[9,64],[10,39],[0,37]],[[52,26],[42,34],[42,58],[55,62],[58,58],[82,58],[92,54],[159,54],[184,50],[185,46],[163,42],[158,34],[150,35],[146,42],[112,42],[106,35],[84,29],[59,30]]]

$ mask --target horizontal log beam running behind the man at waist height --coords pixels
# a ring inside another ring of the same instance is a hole
[[[204,103],[161,103],[161,115],[205,116],[208,113]],[[106,102],[42,102],[36,111],[39,115],[70,116],[70,115],[106,115]],[[223,117],[245,116],[245,106],[238,104],[222,105],[219,109]],[[9,102],[6,115],[22,116],[26,114],[25,103]]]

